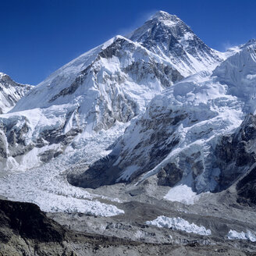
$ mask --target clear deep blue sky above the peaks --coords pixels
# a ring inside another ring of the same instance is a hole
[[[23,84],[38,84],[158,10],[176,14],[220,51],[256,37],[254,0],[0,0],[0,9],[0,72]]]

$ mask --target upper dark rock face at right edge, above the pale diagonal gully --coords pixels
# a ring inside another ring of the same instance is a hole
[[[251,169],[255,163],[256,116],[248,115],[236,133],[221,138],[215,148],[216,165],[220,169],[216,190],[225,190]],[[252,176],[253,170],[251,171]],[[240,181],[239,189],[247,179]],[[248,181],[248,180],[247,180]],[[254,180],[251,180],[254,183]]]

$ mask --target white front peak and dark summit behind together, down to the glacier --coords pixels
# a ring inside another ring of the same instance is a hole
[[[156,94],[190,73],[212,69],[220,55],[176,16],[158,12],[130,39],[114,37],[55,71],[1,116],[2,168],[48,162],[81,134],[130,122]]]

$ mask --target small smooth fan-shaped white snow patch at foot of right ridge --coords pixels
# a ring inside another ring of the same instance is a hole
[[[191,187],[182,184],[172,187],[164,198],[169,201],[178,201],[183,204],[194,204],[200,197],[201,194],[197,195],[197,193],[193,192]]]

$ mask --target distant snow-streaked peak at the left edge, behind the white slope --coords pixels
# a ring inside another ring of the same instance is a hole
[[[0,73],[0,114],[8,112],[32,87],[14,82],[5,73]]]

